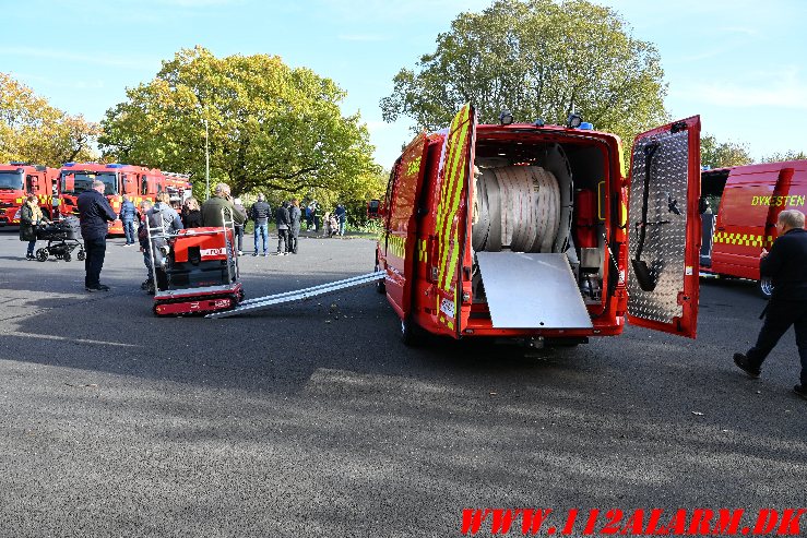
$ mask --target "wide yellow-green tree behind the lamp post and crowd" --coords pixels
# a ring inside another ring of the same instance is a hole
[[[117,159],[205,174],[234,193],[340,189],[373,172],[372,146],[359,116],[343,117],[345,93],[309,69],[275,56],[216,58],[182,49],[147,84],[109,109],[99,143]]]

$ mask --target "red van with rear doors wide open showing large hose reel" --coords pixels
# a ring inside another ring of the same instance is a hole
[[[376,270],[403,340],[578,344],[626,319],[695,337],[700,118],[639,135],[630,176],[619,139],[575,115],[501,119],[466,105],[393,166]]]

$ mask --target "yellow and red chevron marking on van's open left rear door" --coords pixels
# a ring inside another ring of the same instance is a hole
[[[459,241],[459,223],[456,214],[465,187],[468,168],[468,145],[471,144],[474,109],[466,104],[454,117],[446,138],[443,150],[443,178],[440,188],[440,202],[437,205],[435,219],[435,235],[438,238],[437,253],[438,277],[437,287],[446,296],[451,297],[453,304],[446,312],[442,301],[444,297],[437,295],[436,309],[440,312],[438,320],[449,328],[454,328],[454,312],[456,312],[456,290],[454,289],[454,268],[460,258],[461,244]]]

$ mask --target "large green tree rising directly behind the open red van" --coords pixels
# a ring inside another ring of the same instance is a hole
[[[609,8],[584,0],[497,0],[462,13],[438,35],[435,52],[402,69],[381,99],[385,121],[401,116],[415,130],[446,127],[465,101],[479,120],[542,118],[565,123],[575,111],[624,140],[667,119],[658,53],[631,37]]]

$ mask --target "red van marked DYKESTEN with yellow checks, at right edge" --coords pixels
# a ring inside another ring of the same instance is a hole
[[[704,170],[701,191],[710,202],[701,215],[701,272],[759,280],[770,297],[770,280],[760,280],[759,254],[776,239],[781,212],[805,211],[807,160]]]

